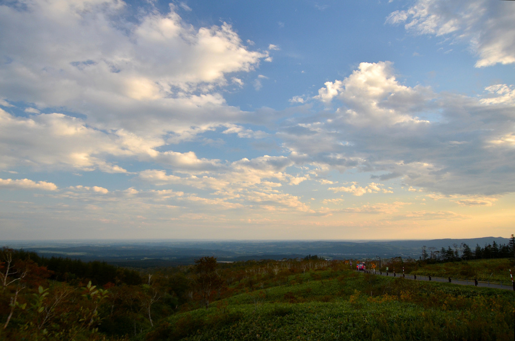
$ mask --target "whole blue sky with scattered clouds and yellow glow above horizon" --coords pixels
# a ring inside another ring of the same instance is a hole
[[[0,2],[0,233],[504,236],[509,1]]]

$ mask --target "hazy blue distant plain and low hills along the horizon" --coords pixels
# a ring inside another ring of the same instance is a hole
[[[192,264],[205,255],[218,261],[305,257],[328,259],[414,258],[422,247],[447,249],[465,243],[474,249],[493,242],[507,244],[508,238],[435,239],[404,241],[202,241],[202,240],[109,240],[109,241],[5,241],[4,246],[35,251],[45,257],[68,257],[83,261],[101,260],[124,266],[174,266]]]

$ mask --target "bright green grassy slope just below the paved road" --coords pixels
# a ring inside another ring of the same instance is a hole
[[[316,278],[316,279],[314,279]],[[148,340],[512,340],[515,294],[307,271],[281,285],[170,316]]]

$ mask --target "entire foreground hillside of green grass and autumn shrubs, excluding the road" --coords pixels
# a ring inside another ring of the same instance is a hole
[[[478,279],[507,277],[512,266],[382,264],[398,274]],[[202,257],[139,272],[0,250],[2,341],[513,340],[514,307],[513,291],[377,276],[316,255]]]

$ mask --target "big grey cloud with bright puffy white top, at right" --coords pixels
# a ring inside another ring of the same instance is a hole
[[[445,194],[508,193],[515,191],[510,96],[511,86],[479,97],[438,94],[404,86],[389,62],[361,63],[315,96],[336,109],[290,120],[278,135],[299,164],[384,172],[372,178]],[[357,184],[339,191],[366,193]]]

